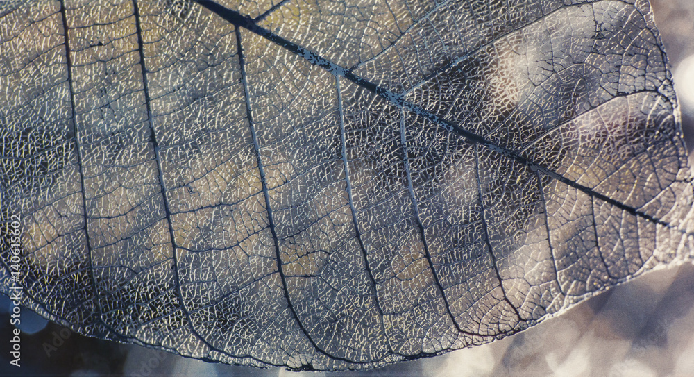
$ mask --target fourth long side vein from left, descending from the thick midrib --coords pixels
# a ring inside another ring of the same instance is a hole
[[[388,348],[391,352],[395,352],[393,351],[393,346],[391,344],[390,337],[386,333],[386,326],[383,322],[383,308],[381,307],[380,300],[378,299],[378,288],[376,284],[376,279],[373,277],[373,272],[371,271],[371,266],[369,265],[369,253],[366,252],[366,246],[364,246],[364,241],[362,240],[362,232],[359,231],[359,221],[357,221],[357,209],[354,206],[354,200],[352,197],[352,183],[349,178],[349,165],[347,160],[347,137],[345,132],[345,117],[344,108],[342,108],[342,90],[340,87],[339,76],[335,76],[335,86],[337,87],[337,108],[339,110],[340,117],[340,142],[342,146],[342,163],[345,168],[345,181],[347,186],[345,187],[345,191],[347,192],[347,196],[349,199],[349,208],[352,212],[352,223],[354,224],[354,231],[355,235],[357,236],[357,242],[359,242],[359,248],[362,250],[362,259],[364,260],[366,275],[369,276],[369,280],[371,281],[371,285],[373,287],[373,300],[376,304],[376,309],[378,310],[378,317],[380,319],[381,328],[388,342]]]

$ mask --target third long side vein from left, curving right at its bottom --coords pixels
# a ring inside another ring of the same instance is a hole
[[[294,303],[291,301],[291,297],[289,296],[289,290],[287,289],[287,278],[285,276],[285,271],[282,269],[282,255],[280,254],[280,239],[277,236],[277,231],[275,229],[275,221],[273,220],[272,216],[272,208],[270,206],[270,192],[267,188],[267,181],[265,178],[265,169],[264,165],[262,163],[262,156],[260,156],[260,143],[258,142],[257,139],[257,133],[255,132],[255,124],[253,123],[253,113],[251,112],[251,92],[248,90],[248,79],[247,79],[247,74],[246,74],[246,60],[244,58],[244,48],[243,44],[241,42],[241,30],[236,27],[235,28],[235,33],[236,33],[236,42],[237,42],[237,48],[239,51],[239,65],[241,66],[241,81],[244,85],[244,97],[246,98],[246,116],[248,117],[248,127],[251,128],[251,135],[253,136],[253,148],[255,149],[255,160],[258,165],[258,173],[260,174],[260,183],[262,184],[262,193],[265,198],[265,210],[267,212],[267,221],[268,221],[268,226],[270,228],[270,233],[272,233],[272,240],[275,244],[275,258],[277,260],[277,271],[278,274],[280,275],[280,280],[282,281],[282,291],[285,294],[285,299],[287,300],[287,308],[289,308],[289,312],[291,312],[291,315],[294,317],[296,320],[296,324],[298,324],[299,329],[301,329],[301,332],[304,334],[304,336],[307,338],[307,340],[311,343],[311,345],[316,349],[316,351],[319,351],[319,353],[322,353],[323,355],[328,356],[328,358],[332,358],[335,360],[341,360],[344,362],[348,363],[358,363],[353,360],[348,360],[346,358],[341,358],[339,356],[335,355],[330,355],[327,351],[324,349],[321,349],[321,347],[316,344],[316,342],[313,340],[311,337],[310,333],[308,332],[307,328],[303,326],[303,323],[301,322],[301,319],[299,319],[296,310],[294,309]]]

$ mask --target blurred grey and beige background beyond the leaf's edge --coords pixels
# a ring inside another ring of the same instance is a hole
[[[694,0],[651,3],[691,152]],[[11,309],[0,295],[0,340],[11,338]],[[364,372],[298,374],[210,364],[82,337],[29,310],[22,310],[21,330],[22,367],[9,366],[10,344],[0,342],[0,376],[694,376],[694,265],[647,274],[492,344]]]

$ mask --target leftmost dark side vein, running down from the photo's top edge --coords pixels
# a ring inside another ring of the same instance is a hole
[[[75,90],[73,86],[73,78],[72,78],[72,49],[70,47],[70,38],[68,34],[68,29],[69,27],[67,26],[67,10],[65,9],[65,0],[60,1],[60,17],[62,19],[62,28],[63,28],[63,35],[64,40],[65,40],[65,62],[67,65],[67,83],[69,86],[69,94],[70,94],[70,110],[71,110],[71,118],[72,118],[72,132],[74,134],[75,138],[75,149],[77,150],[77,166],[78,166],[78,171],[80,174],[80,192],[81,192],[81,197],[82,197],[82,206],[84,209],[84,217],[83,217],[83,224],[82,227],[84,228],[85,231],[85,241],[87,242],[87,264],[89,265],[89,271],[90,271],[90,278],[92,280],[92,290],[94,290],[94,305],[96,306],[96,310],[99,311],[99,322],[108,330],[115,332],[108,324],[103,321],[103,310],[101,309],[101,302],[99,302],[99,291],[96,288],[96,276],[94,275],[94,261],[92,260],[92,241],[90,240],[90,235],[89,235],[89,224],[88,224],[88,217],[89,215],[87,214],[87,196],[85,194],[85,178],[84,178],[84,171],[83,171],[83,156],[82,156],[82,151],[80,149],[80,136],[79,133],[77,132],[77,117],[76,117],[76,110],[75,110]]]

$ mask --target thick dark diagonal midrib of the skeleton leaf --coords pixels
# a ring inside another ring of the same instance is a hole
[[[593,189],[586,187],[584,185],[580,185],[579,183],[576,183],[574,181],[571,181],[570,179],[561,176],[561,174],[557,174],[555,171],[551,171],[545,167],[542,167],[538,165],[536,162],[533,162],[532,160],[528,160],[527,158],[521,156],[518,151],[513,151],[506,149],[502,146],[499,146],[498,144],[491,142],[490,140],[486,140],[484,137],[477,135],[475,133],[471,133],[470,131],[467,131],[464,128],[461,128],[457,126],[454,122],[449,121],[448,119],[444,119],[442,117],[439,117],[439,115],[435,115],[434,113],[425,110],[421,108],[420,106],[414,105],[414,103],[410,103],[409,101],[405,101],[403,96],[400,94],[393,93],[387,89],[384,89],[383,87],[380,87],[376,85],[375,83],[372,83],[371,81],[368,81],[362,77],[359,77],[352,72],[349,72],[347,69],[344,67],[341,67],[339,65],[336,65],[333,62],[330,62],[330,60],[327,60],[316,53],[313,53],[312,51],[309,51],[305,49],[304,47],[299,46],[298,44],[294,42],[290,42],[289,40],[286,40],[283,37],[280,37],[276,34],[273,34],[271,31],[267,30],[266,28],[262,28],[261,26],[257,26],[256,24],[253,23],[253,19],[250,19],[248,17],[245,17],[239,12],[236,12],[234,10],[230,10],[228,8],[224,8],[223,6],[219,5],[218,3],[215,3],[214,1],[211,0],[194,0],[197,3],[199,3],[201,6],[208,8],[210,12],[213,12],[214,14],[218,15],[219,17],[226,19],[228,22],[231,22],[232,24],[235,24],[236,26],[240,26],[242,28],[246,28],[248,31],[251,31],[252,33],[255,33],[257,35],[260,35],[261,37],[264,37],[266,40],[269,40],[270,42],[273,42],[275,44],[278,44],[278,46],[287,49],[288,51],[291,51],[293,53],[296,53],[296,55],[301,56],[301,58],[304,58],[308,62],[310,62],[312,65],[316,65],[318,67],[321,67],[325,69],[326,71],[337,75],[344,77],[348,79],[349,81],[352,81],[356,85],[359,85],[360,87],[369,90],[369,92],[373,92],[374,94],[378,95],[379,97],[382,97],[383,99],[386,99],[387,101],[393,103],[393,105],[398,106],[399,108],[404,108],[405,110],[408,110],[410,112],[414,112],[416,115],[420,115],[421,117],[428,119],[430,122],[434,122],[441,126],[441,128],[445,129],[446,131],[452,131],[457,133],[458,135],[465,137],[467,140],[473,143],[477,143],[480,145],[485,146],[488,149],[491,149],[492,151],[495,151],[497,153],[502,154],[503,156],[510,158],[511,160],[515,160],[521,165],[524,165],[528,168],[530,168],[532,171],[539,171],[545,176],[549,176],[552,179],[555,179],[556,181],[559,181],[561,183],[564,183],[565,185],[569,185],[571,187],[574,187],[577,190],[580,190],[584,192],[584,194],[588,194],[590,196],[595,196],[595,198],[600,199],[601,201],[605,201],[607,203],[610,203],[612,206],[615,206],[617,208],[620,208],[622,210],[625,210],[626,212],[629,212],[630,214],[638,217],[643,217],[643,219],[646,219],[654,224],[664,226],[666,228],[670,229],[675,229],[676,231],[679,231],[679,233],[682,233],[683,235],[686,235],[688,237],[694,236],[693,233],[688,233],[685,230],[679,229],[675,226],[672,226],[666,221],[663,221],[657,217],[653,217],[652,215],[648,215],[643,211],[638,210],[637,208],[634,208],[632,206],[627,206],[625,203],[621,203],[619,201],[616,201],[615,199],[611,199],[608,196],[605,196],[604,194],[600,194],[599,192],[595,192]]]

